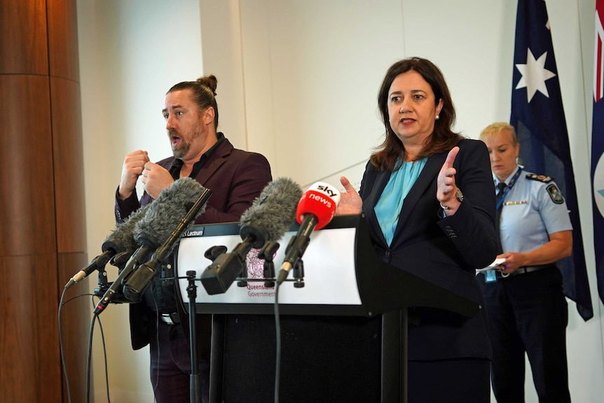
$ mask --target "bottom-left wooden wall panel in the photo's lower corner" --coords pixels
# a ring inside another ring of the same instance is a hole
[[[61,402],[56,254],[0,257],[0,402]]]

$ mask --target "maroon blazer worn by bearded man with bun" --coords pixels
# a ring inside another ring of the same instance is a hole
[[[158,162],[167,170],[174,157]],[[195,224],[214,224],[239,221],[241,214],[260,196],[264,186],[272,180],[268,160],[259,153],[235,149],[228,139],[219,144],[214,153],[203,164],[195,179],[212,191],[205,212],[195,220]],[[126,200],[116,197],[115,214],[119,223],[139,207],[151,203],[153,199],[146,192],[138,200],[136,191]],[[176,283],[176,282],[175,282]],[[184,315],[184,305],[178,303],[181,325],[188,335],[188,318]],[[149,344],[155,335],[154,317],[146,303],[130,304],[130,336],[132,348],[138,350]],[[211,315],[198,315],[196,334],[198,353],[209,357]]]

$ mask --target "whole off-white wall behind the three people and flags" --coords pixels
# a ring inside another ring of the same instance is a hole
[[[595,1],[549,0],[548,8],[595,310],[584,322],[570,301],[570,389],[576,402],[600,402],[603,321],[589,199]],[[378,87],[402,57],[441,67],[456,128],[468,137],[509,118],[515,20],[509,0],[78,1],[90,257],[114,227],[123,156],[170,153],[160,109],[172,84],[215,74],[219,128],[235,146],[266,155],[273,177],[336,184],[344,172],[358,182],[382,139]],[[110,268],[110,279],[115,275]],[[90,283],[94,288],[95,279]],[[149,352],[130,348],[127,307],[110,306],[101,320],[111,401],[152,401]],[[106,400],[100,347],[97,331],[98,402]],[[530,379],[527,390],[527,402],[537,402]]]

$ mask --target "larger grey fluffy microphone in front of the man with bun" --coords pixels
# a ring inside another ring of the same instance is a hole
[[[95,315],[107,308],[107,305],[115,298],[118,288],[123,285],[128,276],[170,238],[172,228],[178,224],[179,217],[183,217],[191,210],[190,207],[195,205],[195,200],[198,200],[206,190],[195,179],[184,177],[163,189],[158,198],[148,205],[146,214],[135,224],[133,231],[133,236],[140,246],[97,303],[94,310]]]

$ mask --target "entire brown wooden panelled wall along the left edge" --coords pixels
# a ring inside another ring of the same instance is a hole
[[[57,312],[86,264],[78,69],[75,0],[0,0],[0,402],[69,401]],[[71,402],[91,312],[90,296],[62,309]]]

